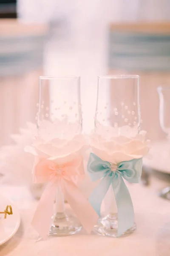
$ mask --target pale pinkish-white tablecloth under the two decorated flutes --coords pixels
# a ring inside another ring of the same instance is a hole
[[[88,236],[82,230],[74,236],[38,242],[30,225],[37,201],[26,187],[1,186],[0,193],[17,204],[22,221],[16,235],[0,247],[0,256],[170,256],[170,201],[156,194],[166,185],[154,177],[147,187],[129,185],[137,225],[130,236],[112,239]]]

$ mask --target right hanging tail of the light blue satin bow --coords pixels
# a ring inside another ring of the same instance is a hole
[[[117,212],[118,212],[118,230],[117,236],[121,236],[125,231],[133,227],[134,224],[134,211],[133,204],[130,197],[129,190],[122,179],[118,175],[119,182],[112,180],[112,186],[115,194]]]

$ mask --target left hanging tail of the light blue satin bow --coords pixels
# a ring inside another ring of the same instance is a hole
[[[100,216],[100,209],[102,201],[108,192],[109,187],[111,186],[112,179],[109,176],[105,176],[102,178],[100,183],[94,188],[91,192],[91,195],[88,198],[89,203],[92,205],[94,210]]]

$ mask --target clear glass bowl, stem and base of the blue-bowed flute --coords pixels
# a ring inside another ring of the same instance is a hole
[[[114,138],[132,138],[140,130],[139,76],[99,76],[96,113],[94,118],[95,133],[104,140]],[[105,197],[109,204],[108,214],[99,218],[94,232],[102,236],[117,236],[118,217],[112,186]],[[126,213],[125,213],[126,214]],[[125,215],[126,218],[126,215]],[[132,233],[136,224],[122,236]]]

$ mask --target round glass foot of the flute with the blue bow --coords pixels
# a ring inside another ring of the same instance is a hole
[[[97,224],[94,226],[94,233],[101,236],[110,236],[117,237],[117,229],[118,229],[118,217],[117,214],[109,214],[104,218],[99,218]],[[133,227],[126,230],[122,236],[128,236],[133,231],[136,230],[136,224],[133,224]]]

